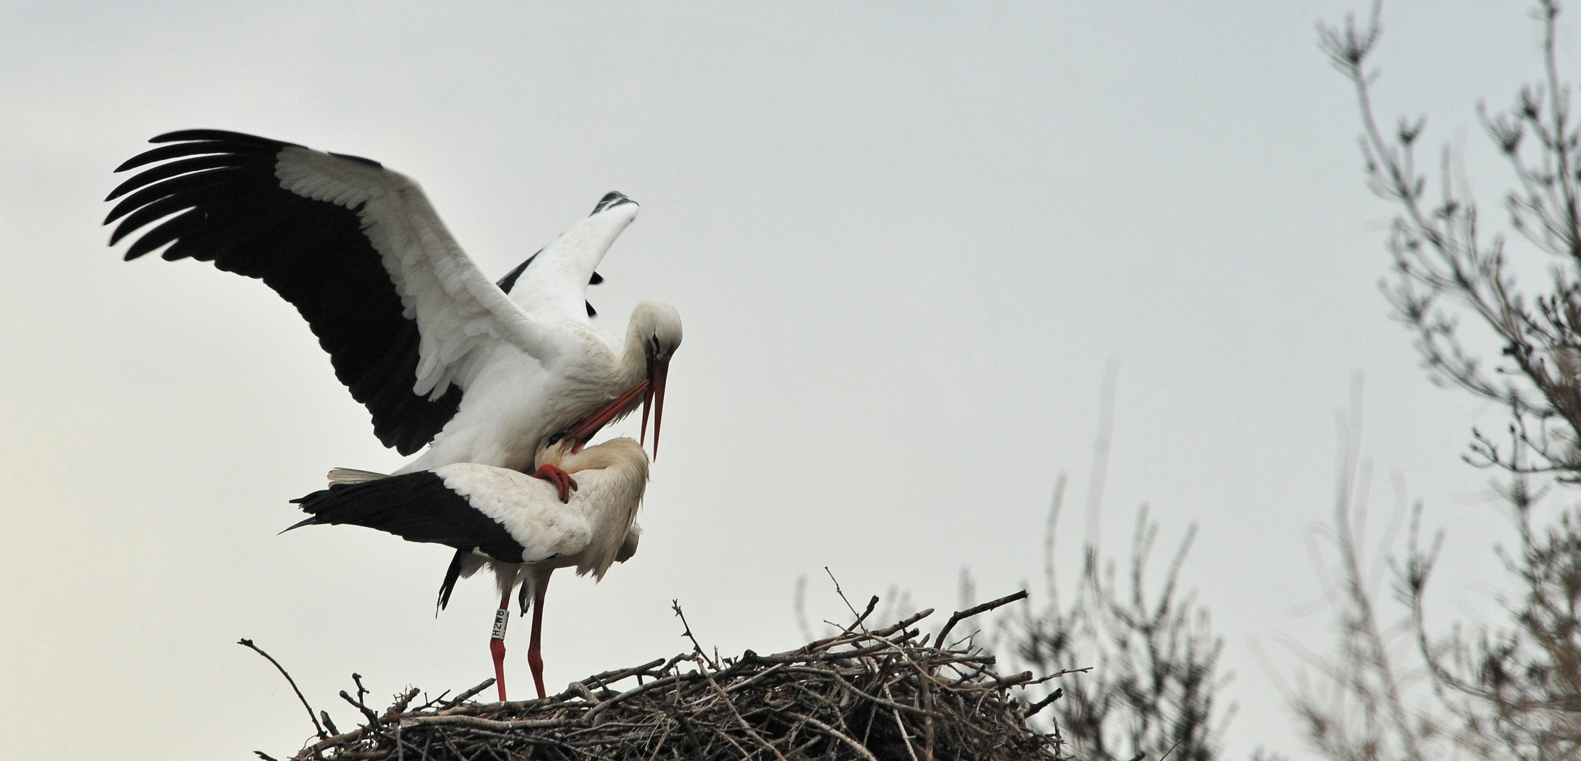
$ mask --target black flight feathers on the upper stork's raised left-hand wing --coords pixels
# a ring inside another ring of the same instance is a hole
[[[142,229],[126,259],[168,245],[164,259],[212,261],[261,278],[307,320],[335,377],[367,405],[384,446],[411,454],[432,441],[455,416],[462,389],[451,386],[433,402],[411,392],[417,323],[403,315],[379,253],[362,234],[359,209],[281,188],[275,163],[291,142],[223,130],[174,131],[150,142],[163,146],[117,169],[147,166],[106,199],[125,196],[104,218],[120,220],[111,245]]]

